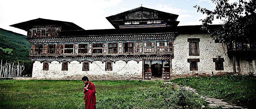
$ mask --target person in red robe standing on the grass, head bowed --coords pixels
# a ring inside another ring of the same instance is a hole
[[[89,81],[88,77],[86,76],[82,78],[82,81],[84,83],[83,100],[84,100],[85,109],[96,109],[95,86],[93,83]]]

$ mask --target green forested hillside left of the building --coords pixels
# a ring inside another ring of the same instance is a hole
[[[22,75],[32,74],[32,62],[29,59],[30,44],[25,35],[0,28],[0,64],[1,60],[18,61],[24,64]]]

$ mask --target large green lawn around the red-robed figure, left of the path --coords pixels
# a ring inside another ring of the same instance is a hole
[[[207,102],[162,81],[92,81],[98,109],[200,108]],[[82,81],[0,80],[0,108],[83,109]]]

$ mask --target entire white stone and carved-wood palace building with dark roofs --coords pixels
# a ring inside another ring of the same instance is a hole
[[[37,18],[10,26],[28,32],[37,79],[143,80],[255,74],[255,58],[236,58],[200,25],[178,26],[178,15],[145,7],[106,19],[115,29],[84,30],[71,22]],[[100,24],[99,24],[100,25]],[[221,25],[210,25],[219,28]],[[249,67],[248,67],[249,66]],[[244,69],[246,68],[246,70]]]

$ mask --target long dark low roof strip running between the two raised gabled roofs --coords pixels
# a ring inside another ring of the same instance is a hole
[[[61,31],[61,36],[87,36],[87,35],[113,35],[113,34],[140,34],[140,33],[178,33],[178,34],[207,34],[201,29],[202,25],[157,27],[157,28],[124,28],[124,29],[94,29]],[[209,25],[211,29],[220,28],[221,25]]]

